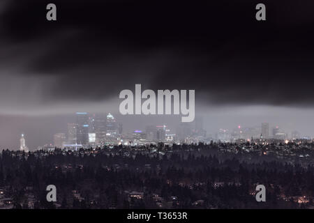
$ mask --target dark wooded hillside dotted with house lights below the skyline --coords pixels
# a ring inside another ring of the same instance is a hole
[[[77,152],[58,148],[32,153],[3,150],[0,187],[13,199],[14,208],[29,208],[28,194],[36,198],[33,208],[308,208],[313,205],[311,165],[301,167],[275,158],[253,162],[252,157],[245,160],[244,154],[227,155],[202,145],[168,150],[165,154],[158,153],[158,149],[151,153],[150,149],[115,146]],[[55,203],[46,200],[46,187],[51,184],[57,187]],[[267,188],[266,202],[255,200],[257,184]],[[134,198],[130,192],[142,193],[142,197]]]

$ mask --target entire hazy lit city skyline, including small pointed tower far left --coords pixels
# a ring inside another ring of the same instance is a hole
[[[260,125],[237,125],[233,128],[219,128],[214,132],[207,132],[204,125],[204,117],[197,116],[193,123],[181,123],[167,125],[162,123],[142,123],[143,128],[124,130],[124,123],[108,114],[89,114],[76,112],[73,114],[75,122],[66,123],[66,131],[55,132],[50,137],[53,141],[41,144],[37,149],[52,150],[57,148],[77,149],[81,147],[97,147],[105,145],[140,146],[149,144],[197,144],[211,141],[245,142],[256,140],[285,141],[287,139],[311,139],[311,136],[300,134],[299,131],[285,130],[282,126],[263,122]],[[123,116],[122,116],[123,117]],[[64,124],[64,123],[63,123]],[[27,138],[27,137],[26,137]],[[24,134],[20,139],[20,150],[28,151],[27,139]],[[31,148],[33,151],[36,148]],[[14,149],[14,148],[13,148]]]

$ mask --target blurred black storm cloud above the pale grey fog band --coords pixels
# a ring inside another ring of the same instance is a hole
[[[140,83],[205,102],[314,105],[313,1],[263,1],[265,22],[249,0],[3,2],[0,68],[37,79],[41,102],[104,100]],[[45,20],[51,2],[57,22]]]

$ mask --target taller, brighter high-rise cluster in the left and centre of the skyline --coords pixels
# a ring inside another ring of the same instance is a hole
[[[195,118],[195,126],[180,123],[176,130],[165,125],[147,125],[144,130],[122,132],[123,125],[112,114],[77,112],[76,122],[68,123],[68,132],[54,134],[53,144],[39,149],[87,148],[107,145],[142,146],[149,144],[192,144],[206,141],[202,118]],[[210,139],[207,139],[210,141]]]

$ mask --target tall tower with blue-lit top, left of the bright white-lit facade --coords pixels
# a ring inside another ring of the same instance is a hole
[[[87,145],[89,143],[89,115],[87,112],[76,113],[77,144]]]

